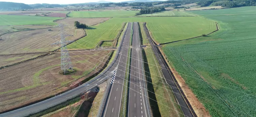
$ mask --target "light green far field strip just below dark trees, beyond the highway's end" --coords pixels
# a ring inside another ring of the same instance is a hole
[[[163,11],[152,14],[141,14],[138,17],[149,17],[149,16],[195,16],[185,11]]]

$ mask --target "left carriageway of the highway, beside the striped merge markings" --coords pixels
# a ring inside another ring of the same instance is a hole
[[[104,117],[118,117],[120,113],[124,77],[126,72],[126,61],[128,56],[127,54],[128,54],[130,35],[131,35],[131,26],[132,26],[132,23],[129,23],[127,27],[127,31],[125,32],[125,35],[124,35],[123,43],[121,45],[121,50],[120,50],[121,55],[118,56],[117,62],[113,66],[113,67],[116,67],[118,64],[118,69],[117,69],[115,81],[112,84],[109,97],[106,101],[107,104],[106,104],[106,107],[104,108],[104,114],[103,114]]]

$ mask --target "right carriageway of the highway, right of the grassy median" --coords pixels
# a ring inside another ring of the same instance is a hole
[[[142,76],[142,61],[138,22],[133,23],[133,37],[131,49],[131,71],[129,88],[128,117],[148,117],[145,106],[144,80]]]

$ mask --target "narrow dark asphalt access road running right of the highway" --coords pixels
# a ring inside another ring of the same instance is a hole
[[[175,77],[173,76],[173,74],[172,74],[171,70],[169,69],[169,67],[167,67],[166,61],[164,60],[164,58],[163,59],[161,58],[163,56],[162,56],[159,48],[156,47],[154,45],[154,43],[152,42],[152,38],[151,38],[151,36],[150,36],[150,34],[148,32],[146,24],[143,24],[143,26],[144,26],[144,31],[146,32],[146,35],[147,35],[147,37],[149,39],[150,45],[152,46],[152,49],[153,49],[153,51],[154,51],[154,53],[156,55],[156,58],[157,58],[160,66],[162,68],[161,71],[163,73],[163,76],[166,79],[166,82],[171,86],[173,94],[176,97],[178,103],[180,104],[180,107],[181,107],[181,110],[183,111],[184,116],[185,117],[196,117],[196,114],[195,114],[193,108],[191,107],[189,101],[185,97],[183,91],[181,90],[180,85],[177,83],[177,81],[176,81]]]

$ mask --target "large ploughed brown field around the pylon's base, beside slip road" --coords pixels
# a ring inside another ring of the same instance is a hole
[[[95,54],[69,52],[73,68],[77,70],[70,75],[58,73],[60,52],[0,70],[0,112],[65,91],[71,83],[93,75],[106,61],[98,55],[106,57],[109,51],[91,52]]]

